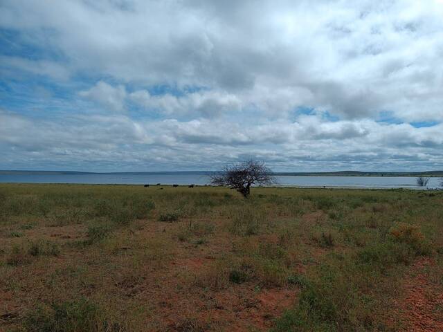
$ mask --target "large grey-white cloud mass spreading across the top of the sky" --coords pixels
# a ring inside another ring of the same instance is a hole
[[[77,71],[227,89],[253,103],[291,89],[304,94],[281,95],[274,113],[308,99],[345,118],[393,111],[405,120],[443,120],[436,1],[50,4],[7,1],[2,25],[33,36],[53,30],[36,40],[60,49]]]

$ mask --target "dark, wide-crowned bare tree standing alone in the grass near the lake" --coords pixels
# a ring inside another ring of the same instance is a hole
[[[247,197],[251,193],[251,185],[271,185],[275,183],[275,176],[263,162],[247,160],[225,166],[221,172],[210,176],[210,183],[226,185]]]

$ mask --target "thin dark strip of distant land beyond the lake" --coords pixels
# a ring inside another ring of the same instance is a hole
[[[217,171],[215,171],[217,172]],[[75,175],[75,174],[213,174],[211,171],[177,171],[177,172],[75,172],[75,171],[29,171],[29,170],[0,170],[0,175],[19,174],[48,174],[48,175]],[[359,172],[359,171],[338,171],[338,172],[274,172],[276,176],[428,176],[443,177],[443,171],[426,172]]]

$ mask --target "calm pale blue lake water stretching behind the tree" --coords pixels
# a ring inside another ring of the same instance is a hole
[[[278,185],[293,187],[360,187],[418,189],[414,177],[403,176],[277,176]],[[64,174],[58,172],[1,173],[0,183],[93,183],[205,185],[207,172],[150,172],[130,174]],[[428,188],[438,187],[440,178],[431,178]]]

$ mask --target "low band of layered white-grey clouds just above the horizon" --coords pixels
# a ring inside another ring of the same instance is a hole
[[[149,165],[152,160],[176,169],[214,168],[246,156],[264,159],[277,169],[288,165],[296,169],[308,165],[314,169],[350,165],[432,169],[443,163],[442,130],[443,124],[415,128],[372,120],[327,122],[318,116],[256,126],[223,119],[146,122],[127,116],[48,121],[0,113],[0,147],[5,160],[114,160],[112,165],[118,169]]]

